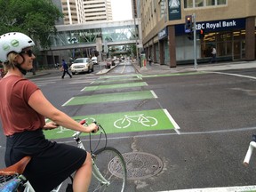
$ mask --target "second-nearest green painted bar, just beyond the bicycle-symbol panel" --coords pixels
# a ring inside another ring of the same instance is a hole
[[[74,97],[65,103],[65,106],[70,105],[85,105],[91,103],[102,103],[102,102],[115,102],[124,100],[145,100],[153,99],[154,95],[150,91],[140,91],[140,92],[116,92],[116,93],[106,93],[106,94],[93,94],[90,96],[80,96]]]

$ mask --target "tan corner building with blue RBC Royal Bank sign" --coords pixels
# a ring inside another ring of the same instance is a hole
[[[194,62],[195,50],[198,63],[209,62],[212,46],[220,61],[255,60],[255,7],[254,0],[140,1],[144,50],[171,68]],[[196,49],[186,15],[196,20]]]

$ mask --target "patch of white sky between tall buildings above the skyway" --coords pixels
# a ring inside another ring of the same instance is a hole
[[[131,0],[111,0],[113,20],[132,20]]]

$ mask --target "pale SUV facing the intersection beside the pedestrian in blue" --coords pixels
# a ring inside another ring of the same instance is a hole
[[[76,73],[93,72],[93,63],[90,58],[77,58],[70,66],[72,75]]]

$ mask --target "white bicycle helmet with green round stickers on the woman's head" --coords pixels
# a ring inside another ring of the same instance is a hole
[[[34,46],[33,40],[22,33],[10,32],[0,36],[0,60],[7,60],[10,52],[20,53],[24,48]]]

